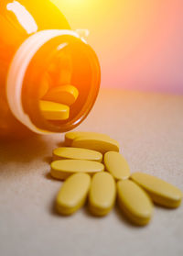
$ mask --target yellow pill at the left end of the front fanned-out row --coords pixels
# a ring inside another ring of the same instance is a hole
[[[56,199],[56,208],[59,214],[71,215],[84,205],[91,177],[86,173],[71,175],[61,186]]]

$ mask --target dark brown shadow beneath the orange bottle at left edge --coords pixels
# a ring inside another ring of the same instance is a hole
[[[0,163],[30,162],[48,154],[48,142],[42,136],[31,138],[0,141]]]

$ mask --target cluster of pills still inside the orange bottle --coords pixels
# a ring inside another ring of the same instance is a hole
[[[59,75],[50,73],[56,72],[57,68],[46,72],[42,78],[39,88],[39,107],[47,120],[66,120],[70,117],[70,106],[72,106],[78,96],[78,89],[70,84],[71,68],[70,56],[63,53],[59,56],[59,62],[62,64]],[[52,86],[51,77],[59,77],[56,86]]]

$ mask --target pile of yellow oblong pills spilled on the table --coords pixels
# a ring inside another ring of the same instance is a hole
[[[153,202],[178,207],[182,192],[172,184],[146,173],[130,173],[119,143],[95,132],[68,132],[65,145],[53,150],[50,174],[62,184],[56,199],[61,215],[71,215],[88,198],[92,215],[105,216],[116,197],[122,213],[135,225],[146,225]]]

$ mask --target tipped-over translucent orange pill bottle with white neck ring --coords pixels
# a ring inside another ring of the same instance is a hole
[[[65,132],[87,117],[99,92],[97,56],[49,0],[0,2],[0,139]],[[79,96],[67,120],[47,120],[44,87],[70,83]]]

